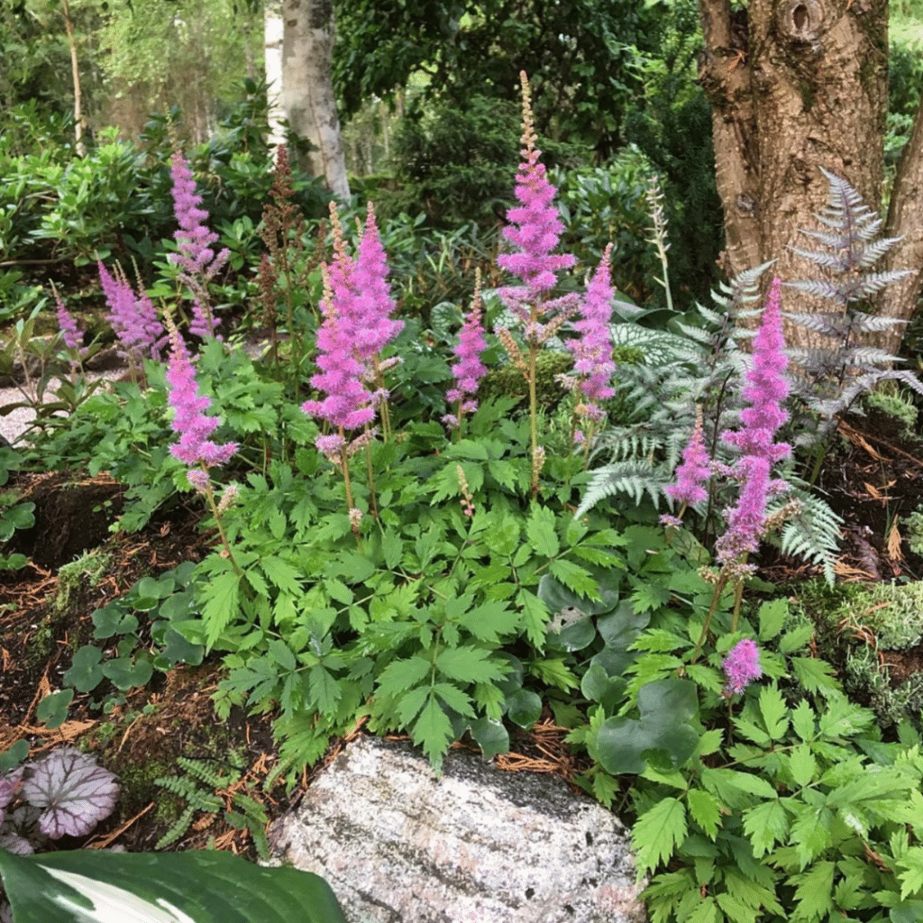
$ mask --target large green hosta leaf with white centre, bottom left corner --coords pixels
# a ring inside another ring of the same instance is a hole
[[[0,873],[16,923],[346,923],[318,875],[230,853],[0,850]]]

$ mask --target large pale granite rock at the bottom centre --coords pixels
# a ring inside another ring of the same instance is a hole
[[[361,737],[270,830],[349,923],[643,923],[629,837],[560,779]]]

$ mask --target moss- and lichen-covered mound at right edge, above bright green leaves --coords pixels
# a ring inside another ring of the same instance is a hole
[[[882,727],[923,727],[923,582],[806,585],[800,595],[849,697]]]

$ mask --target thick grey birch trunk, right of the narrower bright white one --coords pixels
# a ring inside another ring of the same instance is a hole
[[[299,162],[306,172],[325,177],[335,196],[348,199],[331,78],[331,0],[282,0],[282,22],[282,112],[294,134],[312,146]]]

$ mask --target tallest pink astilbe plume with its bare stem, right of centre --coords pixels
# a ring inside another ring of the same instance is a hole
[[[507,328],[495,331],[509,353],[512,363],[521,371],[529,386],[529,415],[532,438],[532,494],[538,494],[538,475],[545,461],[545,450],[538,444],[538,398],[535,391],[535,361],[542,345],[577,309],[577,295],[550,297],[557,285],[557,272],[568,270],[575,259],[570,254],[557,254],[564,223],[554,206],[557,189],[547,177],[545,164],[539,161],[542,151],[535,145],[532,102],[529,80],[521,71],[522,82],[522,150],[520,168],[516,174],[518,207],[507,211],[508,225],[503,236],[516,249],[497,257],[500,269],[518,276],[522,284],[498,290],[504,304],[521,325],[526,352]]]

